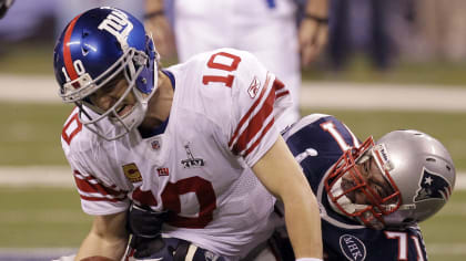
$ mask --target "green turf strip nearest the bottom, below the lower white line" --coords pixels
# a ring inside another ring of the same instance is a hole
[[[91,219],[73,189],[0,187],[0,248],[78,248]],[[466,191],[421,223],[430,261],[466,260]]]

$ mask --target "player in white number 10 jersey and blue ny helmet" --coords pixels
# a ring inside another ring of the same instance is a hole
[[[122,258],[131,202],[134,238],[158,239],[134,240],[134,258],[239,260],[273,233],[272,195],[296,258],[322,260],[315,196],[274,124],[288,91],[252,54],[220,49],[161,69],[141,22],[105,7],[65,27],[54,72],[75,104],[62,148],[94,216],[78,260]],[[148,230],[141,212],[160,222]]]

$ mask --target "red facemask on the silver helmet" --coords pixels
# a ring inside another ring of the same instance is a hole
[[[383,145],[374,145],[372,137],[359,147],[347,149],[324,180],[331,205],[337,212],[366,227],[383,229],[384,216],[393,213],[402,203],[389,170],[386,149]],[[379,175],[378,179],[385,185],[372,182],[372,175]]]

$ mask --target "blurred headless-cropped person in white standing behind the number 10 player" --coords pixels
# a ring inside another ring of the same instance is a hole
[[[146,0],[145,22],[161,51],[176,45],[178,59],[230,46],[253,53],[290,90],[294,104],[280,127],[300,116],[301,64],[308,65],[324,50],[328,0]],[[163,3],[173,9],[173,31]],[[303,15],[297,15],[303,13]],[[296,17],[303,17],[296,25]],[[154,28],[154,30],[152,30]],[[174,34],[174,38],[173,38]],[[176,44],[172,44],[174,40]],[[162,52],[162,56],[165,56]],[[301,61],[301,64],[300,64]]]

